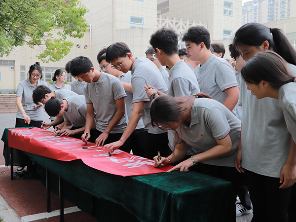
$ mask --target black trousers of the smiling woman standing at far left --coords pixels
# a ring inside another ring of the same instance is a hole
[[[32,126],[35,126],[35,127],[41,128],[41,125],[42,125],[42,120],[35,121],[35,120],[31,119],[30,124],[25,123],[25,119],[16,118],[16,120],[15,120],[15,127],[32,127]],[[19,166],[22,166],[22,167],[27,166],[29,161],[30,161],[30,158],[24,152],[22,152],[21,150],[18,150],[18,149],[14,149],[14,150],[15,150],[15,152],[13,152],[13,154],[14,154],[13,162],[16,165],[19,165]]]

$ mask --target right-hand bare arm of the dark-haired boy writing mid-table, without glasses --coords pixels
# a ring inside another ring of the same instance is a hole
[[[117,111],[115,112],[111,122],[107,126],[107,128],[104,130],[104,132],[96,139],[96,146],[103,146],[105,141],[107,140],[109,133],[112,131],[112,129],[118,124],[120,119],[125,113],[125,103],[124,98],[121,98],[119,100],[115,101]]]

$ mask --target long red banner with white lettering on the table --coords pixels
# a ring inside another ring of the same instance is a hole
[[[166,172],[173,166],[153,167],[153,160],[135,156],[120,149],[111,156],[103,147],[94,146],[72,137],[56,137],[39,128],[8,129],[8,146],[52,159],[71,161],[81,159],[86,165],[119,176],[138,176]],[[88,148],[82,148],[88,147]],[[156,155],[156,153],[155,153]]]

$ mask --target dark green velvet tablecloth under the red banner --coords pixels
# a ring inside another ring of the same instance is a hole
[[[6,129],[2,140],[8,146]],[[231,222],[229,182],[190,171],[121,177],[88,167],[81,160],[65,162],[27,154],[83,191],[122,205],[139,221]],[[112,210],[114,219],[109,221],[122,219],[116,207]]]

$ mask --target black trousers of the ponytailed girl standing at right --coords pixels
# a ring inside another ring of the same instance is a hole
[[[248,170],[245,170],[245,174],[253,204],[252,222],[288,222],[292,186],[279,189],[279,178],[259,175]]]

